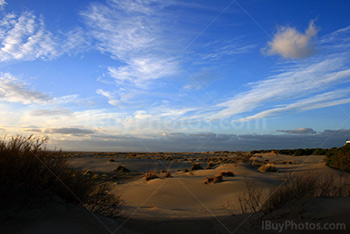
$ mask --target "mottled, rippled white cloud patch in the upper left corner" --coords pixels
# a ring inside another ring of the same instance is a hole
[[[0,20],[0,62],[52,60],[85,51],[90,43],[81,28],[54,35],[46,29],[42,16],[29,11],[9,13]]]

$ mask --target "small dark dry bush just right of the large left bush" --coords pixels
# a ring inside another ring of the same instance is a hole
[[[118,217],[122,200],[120,196],[110,194],[109,190],[108,184],[100,185],[94,193],[90,194],[89,199],[82,206],[103,216]]]

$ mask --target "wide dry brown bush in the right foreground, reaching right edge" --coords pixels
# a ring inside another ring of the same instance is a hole
[[[293,201],[302,204],[313,197],[350,196],[348,173],[294,173],[287,175],[281,184],[269,189],[258,188],[255,182],[246,180],[246,189],[237,197],[241,212],[263,211],[265,214]]]

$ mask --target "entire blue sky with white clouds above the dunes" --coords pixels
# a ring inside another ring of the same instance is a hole
[[[0,134],[77,151],[339,147],[349,1],[0,0]]]

